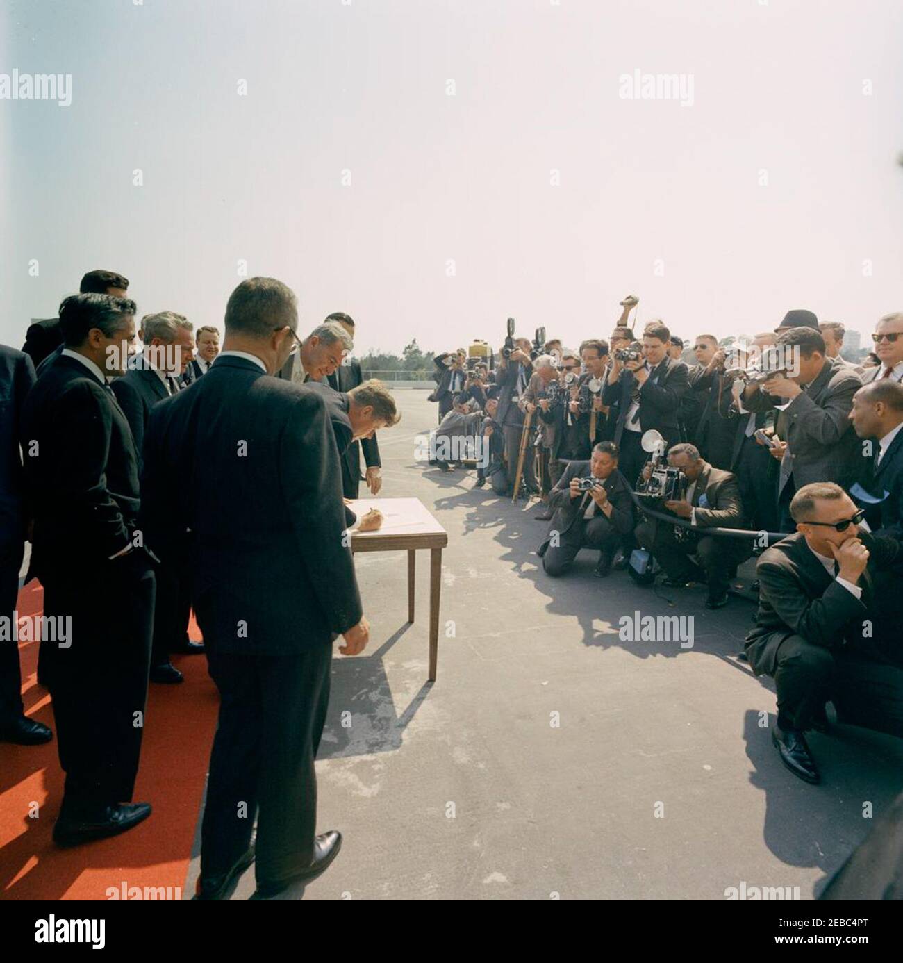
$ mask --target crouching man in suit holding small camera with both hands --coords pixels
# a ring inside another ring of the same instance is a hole
[[[593,478],[596,487],[581,491],[579,480]],[[631,486],[618,471],[618,447],[601,441],[589,461],[571,461],[549,496],[555,512],[549,534],[539,546],[547,575],[564,575],[581,548],[599,551],[595,575],[605,578],[626,535],[633,531]]]

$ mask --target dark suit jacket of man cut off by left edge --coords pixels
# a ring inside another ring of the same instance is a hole
[[[35,366],[22,351],[0,345],[0,547],[25,538],[24,473],[19,428]]]

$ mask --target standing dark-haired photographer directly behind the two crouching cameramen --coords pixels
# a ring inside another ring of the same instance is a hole
[[[684,362],[668,357],[670,338],[661,322],[646,325],[642,357],[626,362],[615,358],[603,393],[604,403],[618,406],[614,442],[621,452],[621,471],[631,484],[646,460],[640,446],[644,431],[658,430],[668,447],[681,440],[678,416],[689,383]]]

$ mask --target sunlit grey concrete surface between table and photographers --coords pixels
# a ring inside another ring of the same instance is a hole
[[[600,580],[585,551],[572,574],[546,577],[537,502],[415,460],[436,423],[426,395],[396,392],[380,496],[419,498],[449,534],[437,681],[429,553],[413,625],[405,554],[357,555],[371,641],[336,653],[317,764],[319,829],[344,845],[284,898],[724,899],[741,883],[817,896],[873,824],[864,804],[876,819],[899,793],[903,742],[835,725],[810,737],[823,784],[794,778],[766,727],[773,685],[735,659],[752,603],[709,612],[702,587]],[[692,616],[692,646],[622,641],[636,611]],[[232,898],[253,889],[245,872]]]

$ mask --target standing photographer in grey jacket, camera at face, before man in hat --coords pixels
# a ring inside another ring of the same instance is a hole
[[[784,373],[746,386],[742,395],[747,411],[768,411],[786,404],[771,455],[781,462],[778,504],[782,532],[794,527],[789,514],[793,492],[814,481],[833,479],[842,487],[856,481],[859,441],[849,420],[853,396],[862,379],[852,368],[838,368],[825,357],[825,343],[817,328],[797,325],[778,336],[775,351],[787,364]],[[780,430],[780,429],[779,429]]]

